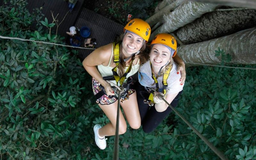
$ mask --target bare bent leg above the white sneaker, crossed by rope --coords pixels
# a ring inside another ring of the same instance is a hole
[[[99,104],[100,108],[103,110],[103,112],[107,115],[108,119],[110,120],[110,123],[104,125],[102,128],[99,129],[99,135],[101,137],[104,136],[112,136],[116,133],[116,113],[117,113],[117,101],[115,103],[109,104],[109,105],[101,105]],[[124,119],[124,116],[119,111],[119,134],[124,134],[126,132],[126,122]]]

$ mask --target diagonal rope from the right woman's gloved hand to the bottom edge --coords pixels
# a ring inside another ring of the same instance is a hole
[[[227,160],[227,158],[223,155],[223,153],[221,153],[218,148],[216,148],[215,146],[213,146],[213,144],[211,142],[209,142],[200,132],[198,132],[196,130],[195,127],[193,127],[176,109],[174,109],[165,99],[163,96],[160,96],[162,100],[164,100],[164,102],[170,107],[172,108],[172,110],[186,123],[188,124],[188,126],[194,131],[196,132],[196,134],[212,149],[212,151],[220,157],[220,159],[222,160]]]

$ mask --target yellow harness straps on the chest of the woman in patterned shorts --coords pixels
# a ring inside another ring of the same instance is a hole
[[[122,77],[120,77],[118,74],[117,74],[117,68],[118,68],[118,65],[120,63],[120,60],[119,60],[119,43],[113,43],[113,50],[114,50],[114,62],[116,63],[116,67],[114,67],[112,69],[112,72],[113,72],[113,76],[116,80],[116,85],[121,87],[122,84],[124,83],[124,80],[126,78],[126,76],[128,75],[128,73],[132,70],[132,61],[133,61],[133,57],[135,55],[132,56],[132,60],[130,62],[130,65],[129,67],[127,68],[127,70],[125,71],[124,75]],[[119,83],[119,84],[118,84]]]

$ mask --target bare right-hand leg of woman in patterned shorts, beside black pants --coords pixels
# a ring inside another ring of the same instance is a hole
[[[130,126],[133,129],[139,129],[141,120],[140,120],[140,112],[139,112],[136,92],[131,94],[129,97],[129,100],[125,100],[123,103],[121,103],[121,105]]]

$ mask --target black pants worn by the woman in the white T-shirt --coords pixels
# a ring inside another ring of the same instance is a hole
[[[164,112],[157,112],[155,105],[150,107],[147,103],[143,102],[144,100],[148,99],[150,94],[145,90],[144,86],[137,82],[135,88],[140,110],[141,125],[143,131],[149,133],[156,129],[156,127],[164,120],[166,116],[168,116],[172,109],[168,107]],[[178,105],[179,96],[181,93],[182,91],[180,91],[174,100],[172,100],[172,107],[176,107]]]

